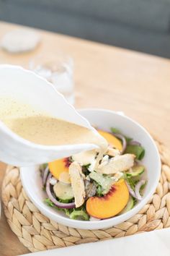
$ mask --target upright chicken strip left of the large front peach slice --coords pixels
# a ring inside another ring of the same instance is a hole
[[[84,181],[81,176],[81,166],[76,161],[69,166],[69,175],[71,178],[71,187],[73,189],[73,195],[75,199],[76,208],[80,207],[84,203],[86,197]]]

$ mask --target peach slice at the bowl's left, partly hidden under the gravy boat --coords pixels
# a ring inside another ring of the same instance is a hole
[[[64,182],[67,184],[71,183],[70,176],[68,173],[69,165],[69,158],[62,158],[48,163],[50,173],[60,182]]]

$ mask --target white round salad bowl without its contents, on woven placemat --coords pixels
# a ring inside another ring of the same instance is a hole
[[[20,168],[22,185],[30,200],[37,206],[37,208],[48,218],[61,223],[66,226],[71,226],[77,229],[105,229],[110,226],[117,225],[128,218],[138,213],[148,200],[153,195],[158,184],[158,179],[161,174],[161,161],[151,135],[148,134],[140,124],[128,116],[123,116],[114,111],[105,109],[82,109],[79,113],[89,120],[90,124],[99,129],[106,131],[110,127],[120,129],[122,134],[132,137],[143,145],[146,150],[146,155],[143,158],[143,165],[146,166],[148,183],[144,191],[143,199],[138,202],[132,210],[123,213],[120,216],[107,218],[101,221],[77,221],[68,218],[61,211],[50,208],[45,205],[43,200],[47,197],[46,193],[42,191],[42,180],[38,166],[29,166]]]

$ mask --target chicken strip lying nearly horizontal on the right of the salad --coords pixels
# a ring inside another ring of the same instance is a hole
[[[116,174],[117,171],[126,171],[133,167],[135,155],[125,154],[116,155],[114,158],[102,161],[97,168],[97,172],[101,174]]]

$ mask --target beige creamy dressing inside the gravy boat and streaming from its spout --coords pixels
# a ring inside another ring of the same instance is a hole
[[[20,137],[40,145],[92,143],[99,146],[99,158],[107,141],[86,127],[49,116],[11,98],[0,99],[0,120]]]

